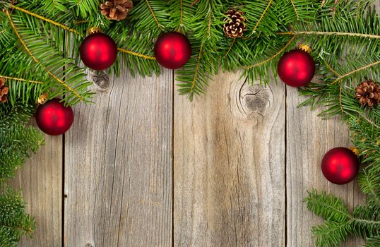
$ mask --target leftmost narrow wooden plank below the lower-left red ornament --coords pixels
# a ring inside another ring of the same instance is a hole
[[[45,137],[45,145],[32,155],[11,182],[21,188],[26,211],[35,217],[33,239],[19,246],[62,246],[62,137]]]

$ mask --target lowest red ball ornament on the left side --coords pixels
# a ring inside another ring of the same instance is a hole
[[[49,100],[38,107],[35,113],[37,126],[48,135],[61,135],[73,124],[74,114],[71,107],[65,107],[60,99]]]

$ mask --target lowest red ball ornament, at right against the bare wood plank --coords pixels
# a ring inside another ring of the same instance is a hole
[[[336,184],[349,183],[359,171],[359,159],[346,147],[336,147],[326,152],[321,169],[328,181]]]

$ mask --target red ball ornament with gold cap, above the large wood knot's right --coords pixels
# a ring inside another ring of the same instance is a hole
[[[309,54],[310,48],[300,45],[299,49],[286,52],[278,62],[278,76],[286,85],[302,87],[315,74],[315,62]]]

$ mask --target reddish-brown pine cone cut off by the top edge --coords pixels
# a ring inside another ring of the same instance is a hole
[[[132,0],[112,0],[100,4],[102,15],[108,20],[124,20],[132,8]]]

